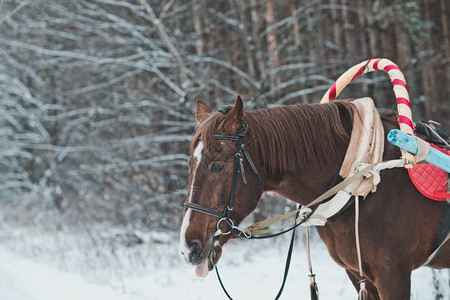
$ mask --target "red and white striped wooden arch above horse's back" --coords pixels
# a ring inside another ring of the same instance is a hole
[[[400,68],[386,58],[375,58],[363,61],[342,74],[323,96],[321,103],[333,101],[347,84],[358,78],[360,75],[383,70],[388,73],[394,86],[394,94],[397,99],[398,123],[400,130],[413,135],[414,123],[412,121],[411,105],[409,102],[408,89],[406,87],[405,76]]]

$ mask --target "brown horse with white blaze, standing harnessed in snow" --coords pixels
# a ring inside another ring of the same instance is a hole
[[[357,117],[353,111],[351,102],[335,101],[244,112],[238,97],[230,111],[220,113],[197,101],[198,128],[191,145],[186,200],[191,205],[186,206],[180,240],[186,261],[197,266],[197,275],[206,276],[212,270],[221,246],[231,236],[213,239],[218,228],[229,230],[230,222],[219,221],[221,215],[214,212],[227,212],[230,193],[234,193],[234,205],[228,211],[229,219],[237,225],[256,208],[263,192],[307,205],[328,189],[346,153],[352,120]],[[382,116],[382,122],[385,132],[397,127],[393,114]],[[244,123],[248,157],[242,155],[241,161],[247,184],[240,175],[233,176],[236,141],[217,138],[236,136]],[[383,159],[398,157],[399,149],[385,143]],[[377,191],[360,203],[362,269],[369,299],[410,299],[411,271],[433,252],[445,205],[423,197],[405,169],[381,171]],[[328,219],[318,232],[332,258],[358,288],[354,222],[350,207]],[[212,260],[211,248],[216,250]],[[448,243],[430,267],[450,267]]]

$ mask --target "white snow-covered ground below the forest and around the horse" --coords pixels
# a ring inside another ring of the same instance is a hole
[[[114,234],[86,238],[64,232],[50,237],[29,230],[26,235],[21,230],[6,234],[2,229],[0,299],[226,299],[214,272],[199,279],[194,268],[184,263],[175,233],[139,233],[143,243],[116,247],[108,239],[117,239]],[[273,299],[287,247],[285,237],[226,245],[219,267],[234,299]],[[317,238],[312,250],[321,299],[357,299],[344,270]],[[444,295],[439,299],[450,299],[450,271],[434,272],[438,278],[434,281],[429,268],[413,272],[411,299],[437,299],[436,283]],[[282,299],[308,298],[304,243],[298,238]]]

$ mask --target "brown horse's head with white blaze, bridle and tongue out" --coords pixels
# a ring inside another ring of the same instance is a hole
[[[262,193],[262,179],[249,164],[250,156],[243,146],[250,137],[241,98],[237,97],[232,108],[219,111],[212,112],[197,100],[199,125],[191,145],[181,226],[181,252],[202,277],[219,260],[231,227],[255,209]]]

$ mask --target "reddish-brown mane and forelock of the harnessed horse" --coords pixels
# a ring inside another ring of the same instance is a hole
[[[336,146],[348,143],[340,112],[353,119],[352,104],[335,101],[330,104],[298,104],[245,111],[249,131],[244,138],[255,162],[262,162],[267,171],[294,172],[326,167],[336,157]],[[214,134],[223,120],[222,113],[211,114],[194,135],[204,141],[207,151],[215,151]],[[220,133],[221,134],[221,133]],[[196,142],[191,146],[193,153]]]

